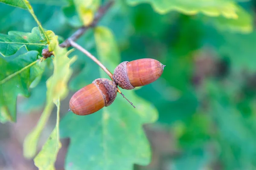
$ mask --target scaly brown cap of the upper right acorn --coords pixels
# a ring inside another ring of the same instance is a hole
[[[124,61],[117,65],[116,69],[114,70],[113,80],[117,85],[119,85],[120,88],[131,90],[134,89],[134,87],[131,85],[128,79],[126,71],[127,62],[128,61]]]

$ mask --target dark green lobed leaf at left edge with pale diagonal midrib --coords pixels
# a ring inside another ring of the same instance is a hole
[[[38,60],[38,51],[0,58],[0,122],[16,121],[17,96],[30,95],[29,86],[41,77],[44,66]]]

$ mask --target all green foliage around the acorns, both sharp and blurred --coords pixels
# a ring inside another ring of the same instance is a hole
[[[165,160],[169,169],[256,168],[254,1],[118,0],[97,26],[90,24],[108,0],[0,2],[0,122],[16,122],[16,105],[26,113],[44,108],[23,144],[24,156],[35,157],[39,169],[55,169],[60,138],[71,139],[67,170],[147,165],[148,123],[177,141],[179,154]],[[118,94],[97,113],[59,118],[69,91],[108,78],[81,52],[59,46],[82,26],[89,28],[76,42],[111,72],[140,58],[166,65],[156,82],[122,91],[135,109]],[[46,48],[53,55],[44,59]],[[19,95],[27,99],[16,104]],[[55,105],[56,125],[35,156]]]

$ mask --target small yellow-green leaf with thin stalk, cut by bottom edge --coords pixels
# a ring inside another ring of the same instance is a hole
[[[54,163],[61,148],[60,135],[59,135],[59,119],[60,119],[60,100],[55,103],[57,106],[57,120],[56,126],[51,135],[45,142],[42,150],[35,157],[35,166],[39,170],[55,170]]]

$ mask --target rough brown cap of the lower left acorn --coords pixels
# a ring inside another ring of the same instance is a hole
[[[114,82],[109,79],[96,79],[93,83],[99,88],[101,91],[104,99],[105,99],[105,106],[111,105],[116,98],[117,93],[117,86]]]

